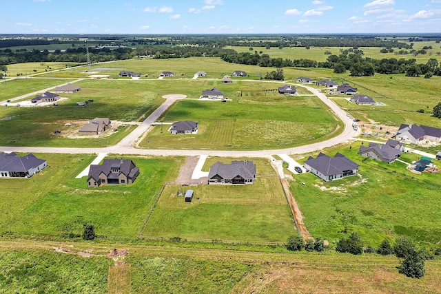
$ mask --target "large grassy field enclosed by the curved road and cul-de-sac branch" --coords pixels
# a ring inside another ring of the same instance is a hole
[[[225,90],[232,101],[179,101],[160,119],[163,122],[196,120],[198,134],[176,136],[167,132],[170,125],[157,125],[140,146],[271,149],[304,145],[335,136],[329,134],[334,132],[338,122],[315,96],[283,96],[276,91],[265,91],[277,87],[272,83],[242,82],[233,86],[210,81],[199,88],[213,86]],[[300,87],[299,90],[307,93]]]

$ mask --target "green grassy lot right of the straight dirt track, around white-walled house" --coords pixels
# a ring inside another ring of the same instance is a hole
[[[314,236],[330,241],[356,231],[362,239],[378,246],[384,238],[408,235],[417,242],[440,242],[440,174],[411,174],[402,162],[387,165],[357,154],[360,143],[334,149],[360,165],[360,176],[324,182],[312,174],[296,176],[291,191]],[[402,160],[418,160],[416,154],[403,154]],[[300,162],[306,157],[300,159]],[[305,182],[306,185],[301,185]]]

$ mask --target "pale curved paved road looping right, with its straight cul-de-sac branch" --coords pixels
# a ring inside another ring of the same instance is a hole
[[[252,80],[250,80],[252,81]],[[256,81],[260,82],[260,81]],[[274,82],[280,83],[280,82]],[[297,84],[296,84],[297,85]],[[349,119],[336,103],[331,101],[325,94],[322,94],[313,87],[306,85],[297,85],[305,87],[313,94],[318,96],[323,103],[338,116],[345,124],[345,130],[342,134],[325,140],[319,143],[303,145],[299,147],[291,147],[285,149],[272,149],[272,150],[252,150],[252,151],[229,151],[229,150],[175,150],[175,149],[137,149],[132,146],[134,141],[139,138],[149,127],[150,123],[153,123],[165,110],[170,107],[179,96],[165,97],[167,100],[163,105],[158,107],[145,121],[137,127],[132,133],[126,136],[120,143],[103,148],[71,148],[71,147],[0,147],[0,151],[17,151],[17,152],[38,152],[38,153],[61,153],[61,154],[137,154],[137,155],[150,155],[150,156],[220,156],[220,157],[267,157],[272,154],[302,154],[310,151],[320,150],[325,147],[331,147],[345,142],[352,138],[356,131],[352,128],[352,120]]]

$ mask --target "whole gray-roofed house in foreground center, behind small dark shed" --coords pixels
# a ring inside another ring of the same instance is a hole
[[[249,160],[216,162],[208,172],[208,184],[254,184],[255,181],[256,165]]]

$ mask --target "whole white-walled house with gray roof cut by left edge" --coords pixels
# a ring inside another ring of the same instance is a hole
[[[30,178],[47,166],[47,160],[32,153],[22,157],[15,152],[0,153],[0,178]]]

